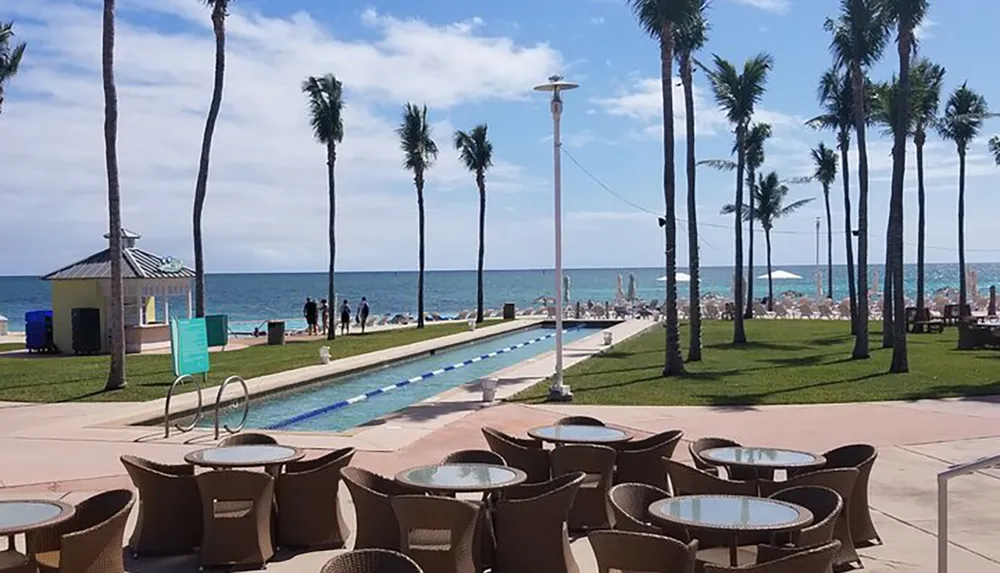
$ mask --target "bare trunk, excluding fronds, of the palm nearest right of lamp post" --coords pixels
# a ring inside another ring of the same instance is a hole
[[[663,97],[663,225],[666,246],[667,295],[664,302],[667,318],[664,376],[684,374],[681,357],[680,324],[677,320],[677,212],[676,176],[674,173],[674,34],[673,25],[663,26],[660,35],[660,81]]]

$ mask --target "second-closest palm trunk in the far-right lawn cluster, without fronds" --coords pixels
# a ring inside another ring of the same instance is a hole
[[[865,136],[865,75],[857,59],[851,66],[854,130],[858,137],[858,320],[851,358],[871,356],[868,349],[868,141]]]

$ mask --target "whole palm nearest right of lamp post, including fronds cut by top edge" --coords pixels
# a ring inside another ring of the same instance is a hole
[[[677,319],[677,213],[674,173],[674,27],[685,22],[694,9],[693,0],[629,0],[643,29],[660,45],[660,91],[663,107],[663,226],[666,248],[666,347],[664,376],[684,374],[680,324]]]

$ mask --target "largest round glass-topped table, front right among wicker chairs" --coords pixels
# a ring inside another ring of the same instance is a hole
[[[740,534],[783,533],[801,529],[813,520],[808,509],[773,499],[737,495],[669,497],[649,506],[653,521],[685,529],[729,536],[729,562],[739,565]],[[693,535],[697,537],[697,535]]]

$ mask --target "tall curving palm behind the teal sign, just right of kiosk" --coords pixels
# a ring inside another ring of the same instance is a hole
[[[195,316],[205,316],[205,254],[202,248],[201,214],[205,209],[208,187],[208,167],[212,158],[212,137],[222,107],[222,89],[226,76],[226,16],[230,0],[202,0],[212,9],[212,30],[215,32],[215,82],[212,102],[205,119],[205,133],[201,139],[201,156],[198,160],[198,179],[194,187],[194,310]]]

